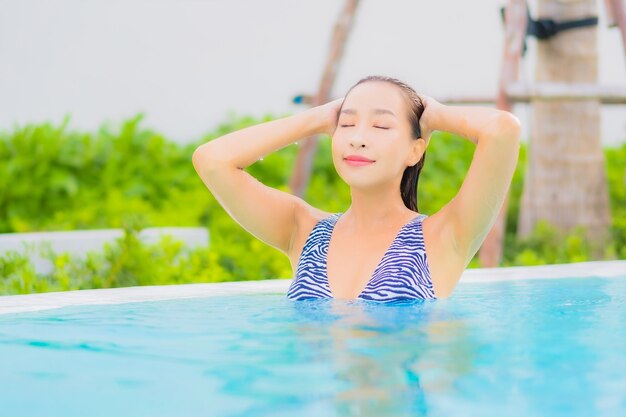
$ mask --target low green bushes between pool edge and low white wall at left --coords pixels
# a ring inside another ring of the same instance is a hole
[[[29,255],[0,255],[0,294],[232,281],[220,266],[218,254],[208,248],[185,248],[182,242],[164,237],[157,244],[142,243],[137,231],[106,245],[103,252],[86,257],[44,251],[53,269],[35,276]]]

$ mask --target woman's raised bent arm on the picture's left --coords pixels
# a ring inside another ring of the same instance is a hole
[[[244,168],[299,139],[332,134],[341,100],[231,132],[201,145],[193,165],[226,212],[249,233],[288,254],[301,198],[268,187]]]

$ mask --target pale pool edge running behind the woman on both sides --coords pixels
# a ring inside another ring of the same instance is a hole
[[[584,277],[626,277],[626,260],[571,264],[467,269],[460,283]],[[286,294],[291,279],[211,284],[161,285],[0,296],[0,314],[67,306],[122,304],[227,295]]]

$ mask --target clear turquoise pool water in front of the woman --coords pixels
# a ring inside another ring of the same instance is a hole
[[[623,416],[626,276],[0,315],[0,416]]]

